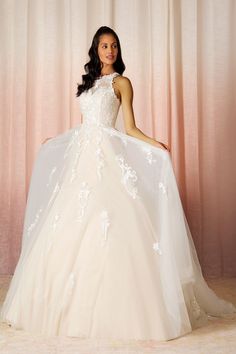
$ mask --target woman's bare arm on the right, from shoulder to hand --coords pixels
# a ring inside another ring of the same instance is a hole
[[[170,151],[166,144],[150,138],[136,127],[133,112],[133,88],[130,80],[127,77],[118,76],[114,80],[114,88],[120,93],[126,134],[160,147],[161,149]]]

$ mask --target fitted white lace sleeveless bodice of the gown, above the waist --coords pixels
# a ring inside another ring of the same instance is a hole
[[[113,78],[120,75],[114,72],[96,79],[94,86],[79,96],[83,125],[115,127],[120,100],[113,88]]]

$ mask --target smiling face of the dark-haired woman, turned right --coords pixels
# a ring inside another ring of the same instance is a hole
[[[100,36],[98,44],[98,56],[103,66],[113,65],[118,54],[118,45],[112,34],[103,34]]]

